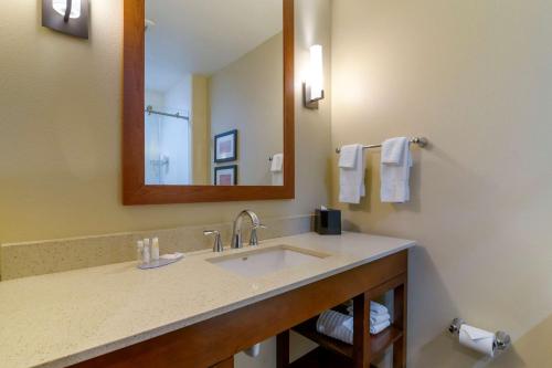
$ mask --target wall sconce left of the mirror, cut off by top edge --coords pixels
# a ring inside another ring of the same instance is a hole
[[[42,0],[42,25],[88,39],[88,0]]]

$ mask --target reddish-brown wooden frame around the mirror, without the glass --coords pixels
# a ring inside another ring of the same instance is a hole
[[[284,186],[147,186],[145,174],[145,0],[125,0],[123,203],[164,204],[295,198],[294,0],[284,12]]]

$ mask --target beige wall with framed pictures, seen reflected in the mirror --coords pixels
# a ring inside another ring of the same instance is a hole
[[[211,155],[215,135],[237,129],[238,185],[269,186],[268,157],[284,149],[283,46],[280,32],[209,80]]]

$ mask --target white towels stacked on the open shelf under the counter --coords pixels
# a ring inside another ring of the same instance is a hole
[[[318,333],[333,337],[340,341],[352,344],[353,307],[347,308],[347,314],[336,311],[326,311],[318,317],[316,329]],[[375,335],[391,326],[389,309],[375,302],[370,302],[370,334]]]

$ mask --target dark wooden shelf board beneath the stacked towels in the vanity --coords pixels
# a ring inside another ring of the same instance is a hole
[[[316,322],[318,317],[310,318],[300,325],[293,328],[299,335],[317,343],[323,349],[330,350],[340,357],[352,359],[353,346],[331,338],[329,336],[319,334],[316,330]],[[390,326],[379,333],[378,335],[370,336],[370,357],[375,359],[381,356],[390,346],[403,336],[400,328]],[[295,366],[294,366],[295,367]],[[307,366],[308,367],[308,366]]]

